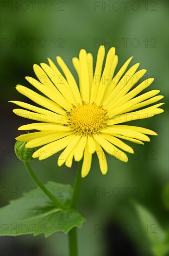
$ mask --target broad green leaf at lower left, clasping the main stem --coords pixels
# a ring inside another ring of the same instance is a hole
[[[46,187],[59,201],[69,204],[70,185],[48,182]],[[75,209],[56,209],[44,192],[37,188],[0,209],[0,235],[44,234],[48,237],[56,232],[66,234],[74,227],[81,228],[85,220]]]

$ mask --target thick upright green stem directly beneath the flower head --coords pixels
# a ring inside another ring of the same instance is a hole
[[[77,208],[78,196],[80,194],[81,188],[81,167],[83,159],[79,162],[77,167],[77,173],[75,177],[75,182],[73,186],[72,198],[70,202],[70,209]],[[78,246],[77,246],[77,228],[73,228],[69,231],[69,256],[78,256]]]

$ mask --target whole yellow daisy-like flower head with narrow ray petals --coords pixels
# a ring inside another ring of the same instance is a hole
[[[158,108],[163,103],[152,105],[163,98],[161,95],[156,96],[159,90],[151,90],[137,96],[150,86],[154,79],[146,79],[135,86],[146,72],[145,69],[137,71],[139,63],[126,71],[132,57],[129,58],[114,76],[118,64],[115,48],[109,50],[103,68],[104,57],[105,48],[100,46],[95,70],[92,54],[87,54],[84,49],[80,51],[79,59],[73,58],[80,89],[61,57],[56,60],[64,75],[53,61],[48,59],[49,65],[41,63],[41,67],[36,64],[33,66],[39,81],[26,77],[26,80],[44,96],[17,85],[19,93],[43,107],[10,101],[28,109],[14,109],[16,115],[40,121],[19,127],[19,130],[35,129],[38,132],[16,138],[18,141],[28,141],[26,148],[44,145],[32,155],[33,158],[43,160],[65,148],[58,158],[58,165],[65,163],[71,167],[73,158],[80,161],[84,156],[81,176],[85,177],[91,168],[92,155],[96,152],[100,170],[102,174],[106,174],[107,162],[103,149],[127,162],[128,157],[124,151],[133,154],[133,149],[121,139],[144,144],[142,141],[150,141],[147,135],[157,135],[150,129],[121,125],[163,112],[163,109]],[[143,108],[147,105],[150,106]]]

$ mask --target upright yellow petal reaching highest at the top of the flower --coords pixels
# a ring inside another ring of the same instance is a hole
[[[94,79],[93,79],[91,95],[90,95],[90,104],[92,104],[95,101],[95,98],[97,95],[97,91],[98,91],[100,79],[101,79],[101,72],[102,72],[104,57],[105,57],[105,47],[101,45],[99,47],[98,54],[97,54],[96,67],[94,71]]]

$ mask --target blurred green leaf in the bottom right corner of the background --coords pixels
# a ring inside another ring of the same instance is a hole
[[[169,249],[168,230],[161,228],[161,225],[149,210],[136,202],[133,204],[145,229],[146,236],[150,240],[153,255],[165,255]]]

